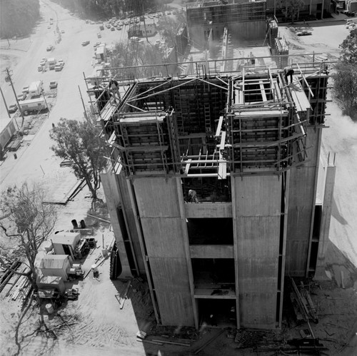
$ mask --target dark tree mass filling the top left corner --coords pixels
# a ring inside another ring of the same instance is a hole
[[[39,18],[39,0],[1,0],[1,39],[30,34]]]

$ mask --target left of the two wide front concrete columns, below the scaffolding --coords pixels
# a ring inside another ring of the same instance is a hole
[[[161,323],[195,326],[178,179],[138,177],[133,185]]]

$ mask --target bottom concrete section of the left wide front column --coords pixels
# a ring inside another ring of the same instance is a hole
[[[193,301],[185,258],[149,258],[163,325],[193,326]]]

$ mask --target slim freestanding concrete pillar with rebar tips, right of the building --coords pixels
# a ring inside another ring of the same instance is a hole
[[[318,239],[318,255],[316,263],[315,279],[325,279],[325,256],[328,248],[328,234],[330,232],[331,211],[333,203],[333,190],[335,187],[336,166],[326,167],[325,193],[323,195],[321,230]]]

